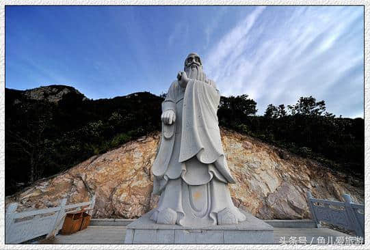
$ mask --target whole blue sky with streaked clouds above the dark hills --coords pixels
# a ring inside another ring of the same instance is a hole
[[[361,6],[7,6],[5,86],[161,94],[197,52],[221,94],[259,114],[314,96],[363,117],[363,20]]]

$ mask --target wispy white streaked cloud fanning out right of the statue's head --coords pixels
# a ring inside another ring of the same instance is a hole
[[[363,98],[362,22],[356,7],[255,8],[213,46],[204,68],[222,94],[249,94],[260,114],[313,95],[355,117],[361,103],[343,107]]]

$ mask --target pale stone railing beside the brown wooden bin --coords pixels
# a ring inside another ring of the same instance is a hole
[[[5,212],[5,243],[17,244],[47,234],[53,238],[63,226],[67,212],[85,210],[90,215],[95,205],[95,196],[90,202],[66,205],[67,199],[60,201],[60,206],[27,212],[16,212],[18,204],[9,204]]]

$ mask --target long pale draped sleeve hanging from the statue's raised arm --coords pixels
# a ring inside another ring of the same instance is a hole
[[[214,163],[229,183],[235,183],[228,169],[218,127],[217,107],[220,93],[214,83],[189,80],[183,104],[183,130],[179,161],[196,156],[205,164]]]

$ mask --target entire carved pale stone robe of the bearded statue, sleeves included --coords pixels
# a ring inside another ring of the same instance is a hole
[[[162,122],[153,163],[153,193],[161,197],[150,219],[157,223],[163,223],[159,217],[165,217],[170,219],[164,223],[216,225],[220,224],[217,213],[225,208],[235,215],[235,223],[246,219],[234,206],[227,186],[235,180],[222,149],[219,103],[220,93],[209,79],[190,79],[186,88],[178,81],[170,86],[162,110],[173,110],[176,122]]]

